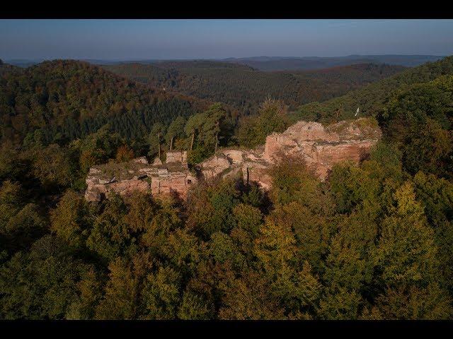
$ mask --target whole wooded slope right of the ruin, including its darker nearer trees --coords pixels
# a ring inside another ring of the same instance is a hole
[[[376,117],[384,141],[398,145],[407,172],[453,179],[453,57],[304,105],[290,120],[350,119],[357,107],[357,117]]]

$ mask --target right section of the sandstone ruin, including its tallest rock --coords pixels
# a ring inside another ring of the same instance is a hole
[[[268,136],[264,148],[220,150],[198,169],[205,179],[241,171],[244,181],[257,182],[263,189],[269,189],[272,182],[268,169],[282,158],[298,157],[325,180],[334,164],[343,160],[360,162],[381,135],[377,121],[372,118],[340,121],[330,126],[299,121],[283,133]]]

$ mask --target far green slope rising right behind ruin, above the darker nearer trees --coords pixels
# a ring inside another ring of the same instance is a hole
[[[353,90],[343,96],[325,102],[312,102],[302,105],[294,119],[314,119],[332,121],[354,116],[357,107],[360,115],[382,113],[391,97],[408,90],[417,83],[427,83],[444,75],[453,75],[453,57],[445,57],[436,62],[428,62],[413,69],[407,69],[389,78]],[[338,116],[337,116],[338,114]]]

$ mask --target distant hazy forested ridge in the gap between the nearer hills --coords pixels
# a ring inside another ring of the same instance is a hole
[[[343,95],[403,71],[403,66],[356,64],[318,71],[263,72],[249,66],[216,61],[168,61],[155,64],[103,66],[121,76],[206,100],[255,112],[265,97],[292,108]]]

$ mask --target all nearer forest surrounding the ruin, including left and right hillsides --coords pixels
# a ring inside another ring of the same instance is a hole
[[[453,57],[297,112],[263,99],[248,117],[76,61],[0,85],[1,319],[452,319]],[[84,199],[93,164],[159,147],[196,162],[357,105],[384,136],[326,182],[289,158],[267,192],[231,178],[185,202]]]

